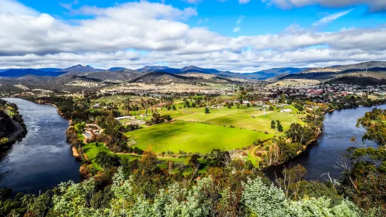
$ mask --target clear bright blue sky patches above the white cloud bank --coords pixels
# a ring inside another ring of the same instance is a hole
[[[36,1],[22,0],[25,6],[29,6],[41,13],[55,15],[63,20],[76,20],[88,18],[83,15],[71,15],[64,8],[64,5],[71,5],[72,8],[81,8],[82,6],[96,6],[98,8],[108,8],[116,6],[119,3],[127,1],[104,1],[104,0],[78,0],[78,1]],[[75,2],[75,3],[74,3]],[[386,15],[383,13],[367,13],[368,6],[361,4],[359,6],[345,6],[340,8],[326,8],[318,5],[306,6],[303,8],[294,8],[291,10],[282,10],[275,6],[267,6],[262,1],[249,1],[249,3],[240,4],[237,0],[219,1],[206,0],[199,3],[188,3],[188,1],[165,0],[150,1],[164,2],[176,8],[193,7],[198,12],[198,16],[186,20],[191,27],[207,27],[211,31],[216,31],[227,36],[253,36],[256,34],[277,34],[289,25],[298,24],[301,27],[311,27],[314,22],[333,13],[339,13],[345,10],[352,10],[347,15],[338,18],[329,25],[324,25],[320,29],[324,31],[338,31],[342,28],[351,27],[376,27],[386,22]],[[233,32],[235,22],[244,16],[240,24],[240,31]]]

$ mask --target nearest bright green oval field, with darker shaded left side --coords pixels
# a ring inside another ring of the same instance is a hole
[[[185,151],[188,153],[209,153],[213,149],[232,150],[250,146],[256,139],[269,139],[274,134],[253,130],[175,121],[145,127],[125,133],[137,141],[138,148],[151,146],[156,153],[163,151]]]

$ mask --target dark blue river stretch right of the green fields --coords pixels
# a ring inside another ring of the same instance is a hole
[[[373,107],[359,107],[356,109],[343,109],[326,113],[323,122],[322,134],[319,135],[314,144],[308,146],[301,155],[284,165],[277,165],[268,168],[265,173],[272,180],[275,174],[280,174],[284,167],[294,167],[303,165],[308,173],[306,180],[325,181],[327,176],[322,176],[329,172],[331,178],[337,179],[341,170],[336,168],[336,162],[344,155],[347,148],[360,146],[350,141],[350,138],[356,137],[361,143],[361,137],[364,135],[364,128],[356,127],[358,118],[364,116],[364,113],[373,108],[386,109],[386,105]],[[376,146],[373,141],[365,141],[367,146]]]

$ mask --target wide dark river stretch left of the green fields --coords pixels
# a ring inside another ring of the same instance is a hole
[[[80,182],[80,162],[72,156],[65,137],[69,122],[54,106],[4,100],[18,105],[28,132],[0,158],[0,187],[12,188],[13,193],[38,194],[63,181]]]

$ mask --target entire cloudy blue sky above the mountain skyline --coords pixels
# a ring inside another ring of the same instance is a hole
[[[0,69],[167,64],[237,72],[385,60],[379,0],[0,0]]]

